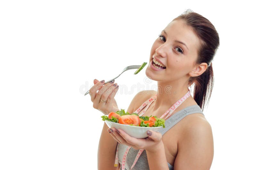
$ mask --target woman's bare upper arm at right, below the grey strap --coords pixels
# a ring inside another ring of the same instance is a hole
[[[209,170],[213,159],[211,125],[206,120],[191,121],[178,141],[175,170]]]

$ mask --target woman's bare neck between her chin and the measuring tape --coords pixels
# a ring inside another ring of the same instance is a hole
[[[160,107],[170,107],[188,92],[187,81],[157,82],[158,91],[154,110]]]

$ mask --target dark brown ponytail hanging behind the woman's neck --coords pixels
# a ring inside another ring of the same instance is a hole
[[[205,105],[210,101],[214,83],[212,63],[205,72],[194,78],[194,100],[204,111]]]

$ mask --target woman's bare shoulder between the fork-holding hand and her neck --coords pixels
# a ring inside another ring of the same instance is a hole
[[[137,109],[138,107],[140,107],[140,105],[145,102],[147,99],[149,99],[152,96],[156,95],[156,91],[155,90],[143,90],[140,91],[139,93],[137,93],[133,99],[132,102],[130,103],[127,111],[129,113],[132,113],[135,109]]]

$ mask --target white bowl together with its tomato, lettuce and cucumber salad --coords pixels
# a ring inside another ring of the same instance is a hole
[[[137,113],[128,113],[123,109],[110,112],[108,115],[101,116],[102,120],[109,128],[122,129],[134,138],[148,137],[147,131],[159,131],[164,128],[164,119],[156,116],[139,116]]]

